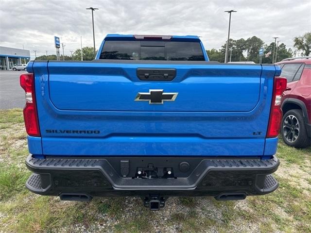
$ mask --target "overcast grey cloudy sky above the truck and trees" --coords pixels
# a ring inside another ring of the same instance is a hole
[[[228,14],[234,9],[230,38],[256,35],[271,43],[273,36],[293,47],[294,36],[311,31],[311,0],[0,0],[0,46],[48,50],[55,54],[53,36],[66,45],[65,54],[93,46],[94,12],[96,48],[105,34],[199,35],[207,49],[226,41]]]

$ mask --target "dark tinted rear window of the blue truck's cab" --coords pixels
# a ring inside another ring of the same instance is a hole
[[[200,42],[105,41],[100,59],[205,61]]]

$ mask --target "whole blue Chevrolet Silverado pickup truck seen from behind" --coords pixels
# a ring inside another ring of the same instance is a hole
[[[240,200],[276,190],[275,65],[208,60],[198,36],[108,34],[93,61],[31,61],[20,76],[33,171],[61,200]]]

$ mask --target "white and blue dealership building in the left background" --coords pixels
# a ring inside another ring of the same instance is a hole
[[[27,64],[30,51],[0,46],[0,70],[10,70],[18,64]]]

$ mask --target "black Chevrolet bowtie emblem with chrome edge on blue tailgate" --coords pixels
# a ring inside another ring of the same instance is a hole
[[[163,90],[138,92],[135,101],[149,101],[149,104],[163,104],[163,101],[174,101],[178,93],[165,93]]]

